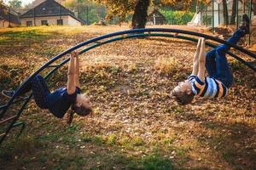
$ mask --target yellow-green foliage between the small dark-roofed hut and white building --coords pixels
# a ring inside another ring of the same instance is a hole
[[[192,20],[194,13],[189,11],[172,11],[172,9],[161,8],[160,12],[165,15],[167,24],[186,25]]]

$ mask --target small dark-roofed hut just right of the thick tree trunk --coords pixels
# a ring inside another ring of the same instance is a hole
[[[166,17],[158,9],[154,8],[153,11],[149,11],[148,25],[163,25],[165,22]]]

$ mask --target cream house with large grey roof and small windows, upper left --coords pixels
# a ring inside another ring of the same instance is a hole
[[[44,0],[20,15],[21,26],[81,26],[72,11],[55,0]]]

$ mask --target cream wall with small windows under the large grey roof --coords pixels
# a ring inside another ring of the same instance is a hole
[[[32,26],[34,26],[34,20],[36,22],[36,26],[42,26],[42,20],[47,20],[49,26],[57,25],[57,20],[63,20],[63,26],[81,26],[81,23],[78,20],[73,19],[71,16],[44,16],[44,17],[36,17],[34,18],[20,18],[21,26],[26,26],[27,21],[32,22]]]

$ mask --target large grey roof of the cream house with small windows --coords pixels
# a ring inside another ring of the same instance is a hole
[[[39,4],[38,4],[39,3]],[[55,0],[37,0],[32,4],[32,8],[30,8],[26,13],[21,14],[20,18],[31,18],[31,17],[44,17],[44,16],[62,16],[69,15],[73,17],[75,20],[79,20],[82,22],[75,14],[65,8],[60,3],[55,2]]]

